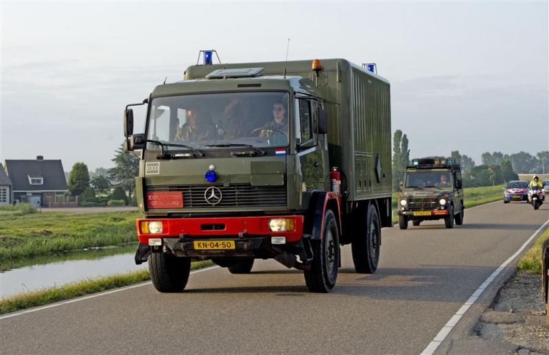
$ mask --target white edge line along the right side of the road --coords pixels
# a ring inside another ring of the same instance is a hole
[[[485,206],[485,205],[483,205],[483,206]],[[480,206],[478,206],[478,207],[480,207]],[[434,339],[429,343],[429,345],[427,345],[427,347],[425,347],[423,352],[421,352],[421,355],[434,354],[436,349],[438,349],[439,346],[441,345],[441,343],[444,341],[444,339],[446,339],[446,336],[448,336],[448,334],[452,331],[452,329],[454,329],[454,327],[456,326],[458,321],[461,319],[461,317],[463,317],[463,314],[465,314],[465,312],[467,312],[467,310],[469,310],[469,308],[471,308],[471,306],[473,306],[475,304],[478,297],[491,284],[491,282],[493,282],[495,277],[500,275],[500,273],[504,270],[505,266],[507,266],[507,264],[512,262],[515,259],[515,257],[517,257],[520,253],[522,253],[522,251],[526,248],[526,246],[528,246],[528,244],[530,244],[530,242],[535,237],[537,237],[539,232],[542,231],[544,229],[544,227],[546,227],[546,225],[548,225],[548,224],[549,224],[549,220],[546,220],[546,222],[543,225],[541,225],[541,227],[539,227],[539,229],[537,229],[537,231],[535,231],[533,233],[533,235],[530,236],[530,238],[528,238],[528,240],[526,240],[526,242],[524,244],[522,244],[522,247],[520,247],[520,249],[516,253],[511,255],[511,257],[509,257],[509,259],[505,260],[505,262],[503,264],[501,264],[500,267],[495,269],[495,271],[486,279],[486,281],[484,281],[482,283],[482,285],[480,285],[476,289],[476,291],[473,293],[473,295],[471,295],[471,297],[469,297],[469,299],[467,299],[465,304],[463,304],[463,306],[461,306],[461,308],[456,312],[456,314],[454,314],[454,316],[452,318],[450,318],[450,320],[443,326],[443,328],[440,330],[440,332],[438,334],[436,334]]]

